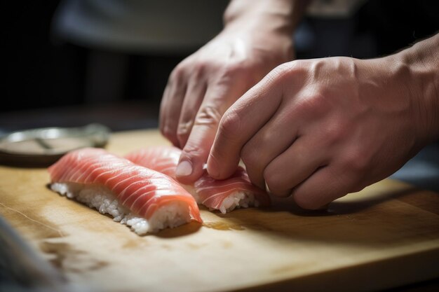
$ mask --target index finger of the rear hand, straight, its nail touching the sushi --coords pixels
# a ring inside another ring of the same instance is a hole
[[[203,103],[196,114],[194,125],[185,144],[176,176],[182,183],[193,183],[203,174],[203,165],[207,161],[219,120],[227,109],[230,88],[212,86],[207,89]]]

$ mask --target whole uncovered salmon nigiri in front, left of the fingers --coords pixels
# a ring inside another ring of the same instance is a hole
[[[139,235],[192,219],[202,222],[194,197],[174,179],[103,149],[69,152],[48,172],[52,190],[113,216]]]

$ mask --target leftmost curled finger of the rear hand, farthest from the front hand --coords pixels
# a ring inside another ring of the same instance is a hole
[[[166,85],[163,100],[161,102],[161,125],[160,130],[164,137],[169,139],[175,146],[178,146],[177,126],[180,120],[180,112],[187,90],[187,82],[181,71],[174,69],[170,76],[170,81]],[[175,73],[177,72],[177,73]]]

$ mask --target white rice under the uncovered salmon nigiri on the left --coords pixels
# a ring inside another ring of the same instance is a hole
[[[82,183],[52,183],[50,188],[60,195],[83,202],[101,214],[109,214],[113,220],[130,226],[138,235],[174,228],[191,221],[189,209],[182,202],[172,202],[157,209],[149,220],[131,213],[119,204],[114,194],[104,186]]]

